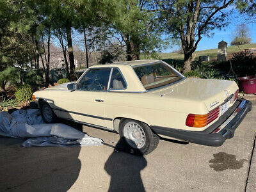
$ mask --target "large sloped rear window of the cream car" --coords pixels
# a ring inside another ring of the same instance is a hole
[[[134,67],[134,71],[146,90],[174,83],[183,78],[179,72],[164,63],[137,66]]]

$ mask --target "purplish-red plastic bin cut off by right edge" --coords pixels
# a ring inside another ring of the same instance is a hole
[[[239,89],[244,91],[246,94],[256,93],[256,77],[255,76],[246,76],[238,77],[239,80]]]

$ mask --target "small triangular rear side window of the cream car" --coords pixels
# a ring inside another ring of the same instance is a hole
[[[126,88],[126,84],[124,81],[124,78],[122,77],[122,74],[117,68],[113,69],[109,90],[122,90]]]

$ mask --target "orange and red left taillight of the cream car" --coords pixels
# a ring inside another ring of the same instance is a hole
[[[186,125],[188,127],[204,127],[218,118],[220,114],[220,108],[213,109],[210,113],[205,115],[189,114],[186,119]]]

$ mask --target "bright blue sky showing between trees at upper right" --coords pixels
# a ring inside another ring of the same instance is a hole
[[[198,47],[196,51],[202,51],[205,49],[216,49],[218,48],[218,42],[224,40],[230,46],[230,42],[232,42],[232,38],[234,37],[232,33],[236,31],[237,26],[243,23],[244,17],[239,16],[239,13],[235,10],[230,17],[230,24],[224,29],[213,30],[214,35],[209,38],[207,36],[203,36],[202,40],[198,43]],[[247,24],[248,28],[250,29],[250,37],[252,38],[252,44],[256,43],[256,23]],[[172,52],[179,49],[177,46],[168,47],[167,49],[163,50],[163,52]]]

